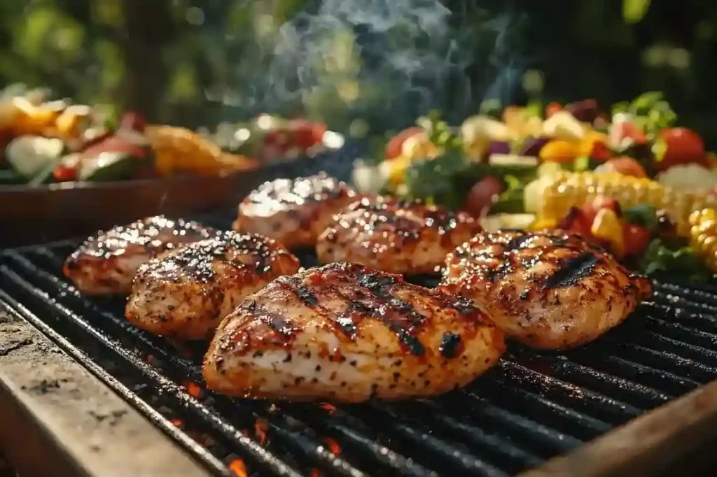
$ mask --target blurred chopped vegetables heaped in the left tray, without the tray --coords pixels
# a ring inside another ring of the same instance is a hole
[[[49,101],[46,90],[0,92],[0,184],[224,175],[277,158],[337,149],[343,136],[305,120],[261,115],[217,133],[145,125],[132,112],[116,127],[101,107]]]

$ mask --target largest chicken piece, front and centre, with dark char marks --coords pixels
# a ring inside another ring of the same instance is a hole
[[[204,379],[244,397],[428,396],[466,385],[504,350],[503,334],[468,300],[336,263],[247,297],[219,326]]]

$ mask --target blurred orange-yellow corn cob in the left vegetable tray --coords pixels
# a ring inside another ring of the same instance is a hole
[[[242,156],[225,155],[219,146],[183,127],[148,125],[145,135],[154,150],[155,168],[161,175],[179,171],[219,175],[253,165],[252,160]]]

